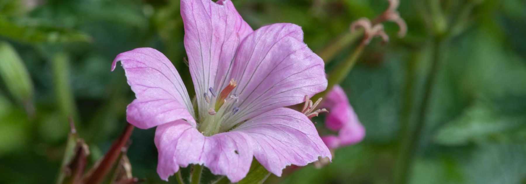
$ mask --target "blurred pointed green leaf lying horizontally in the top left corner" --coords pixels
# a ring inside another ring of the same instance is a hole
[[[27,43],[90,42],[88,35],[76,30],[46,26],[38,23],[15,23],[0,16],[0,36]]]

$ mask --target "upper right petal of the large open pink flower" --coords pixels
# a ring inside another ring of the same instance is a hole
[[[243,40],[231,76],[239,112],[232,124],[271,109],[299,104],[327,88],[323,60],[303,42],[301,27],[272,24]]]

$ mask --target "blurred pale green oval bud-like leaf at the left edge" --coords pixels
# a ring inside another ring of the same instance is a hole
[[[16,50],[7,42],[0,42],[0,76],[16,100],[26,106],[31,105],[33,82],[24,62]]]

